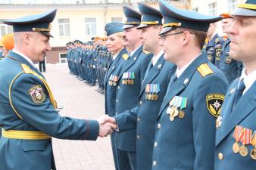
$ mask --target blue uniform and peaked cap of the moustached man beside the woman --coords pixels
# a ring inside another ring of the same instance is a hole
[[[141,14],[132,8],[123,7],[127,20],[123,29],[139,26]],[[126,30],[125,30],[126,31]],[[145,54],[142,45],[133,49],[120,72],[117,82],[116,114],[131,110],[139,102],[139,92],[151,54]],[[136,169],[136,129],[116,133],[117,159],[120,170]]]

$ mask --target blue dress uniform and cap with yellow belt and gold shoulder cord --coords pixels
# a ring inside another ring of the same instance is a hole
[[[14,32],[50,34],[56,10],[4,23]],[[97,121],[62,117],[45,78],[29,57],[13,50],[0,62],[0,168],[5,170],[50,170],[55,168],[51,137],[95,140]],[[9,69],[11,68],[11,70]],[[8,72],[6,71],[8,70]]]

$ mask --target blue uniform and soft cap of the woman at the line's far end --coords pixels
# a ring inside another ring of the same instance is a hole
[[[111,36],[117,32],[123,32],[123,23],[107,23],[105,25],[105,32],[107,36]],[[108,70],[105,76],[105,114],[108,116],[115,116],[116,113],[116,93],[117,93],[117,81],[120,79],[120,71],[122,70],[123,63],[128,59],[129,55],[126,48],[121,49],[119,54],[116,54],[111,63],[108,65]],[[111,134],[111,146],[114,157],[115,168],[117,165],[116,144],[114,141],[114,135]]]

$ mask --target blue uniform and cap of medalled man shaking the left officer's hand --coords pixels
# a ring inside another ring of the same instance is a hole
[[[138,7],[142,13],[142,22],[137,28],[162,25],[160,11],[142,3]],[[148,64],[139,93],[139,104],[132,110],[115,116],[120,132],[136,128],[137,170],[151,169],[156,118],[175,68],[174,64],[164,60],[163,51],[156,54]]]

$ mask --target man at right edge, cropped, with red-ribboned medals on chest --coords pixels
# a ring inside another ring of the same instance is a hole
[[[242,61],[242,75],[229,86],[216,122],[215,170],[256,168],[256,1],[239,4],[227,32],[229,55]]]

